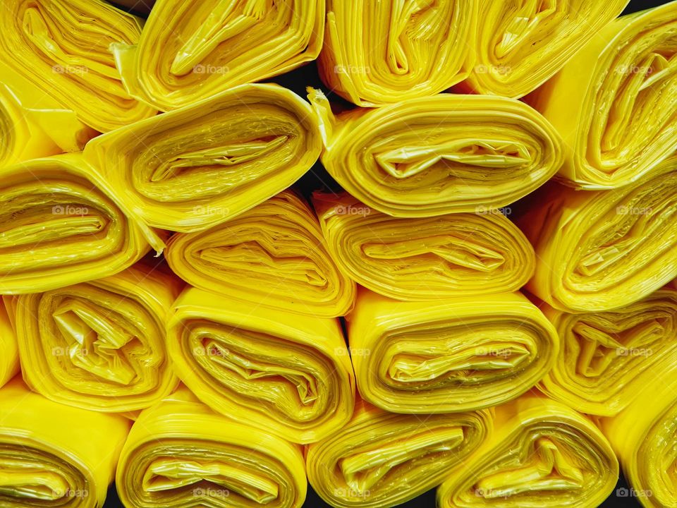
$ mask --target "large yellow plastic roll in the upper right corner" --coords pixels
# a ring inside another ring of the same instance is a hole
[[[677,150],[675,30],[675,1],[618,18],[539,89],[532,102],[563,137],[571,185],[644,180]]]

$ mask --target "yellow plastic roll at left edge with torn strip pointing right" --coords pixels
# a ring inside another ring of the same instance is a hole
[[[0,294],[107,277],[164,246],[80,154],[0,169]]]

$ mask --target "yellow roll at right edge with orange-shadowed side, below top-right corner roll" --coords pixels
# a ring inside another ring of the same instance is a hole
[[[549,183],[517,217],[536,250],[532,294],[559,310],[627,306],[677,277],[677,158],[614,191]]]

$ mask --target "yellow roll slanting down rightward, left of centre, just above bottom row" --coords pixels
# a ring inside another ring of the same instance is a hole
[[[303,444],[350,419],[355,378],[338,320],[195,288],[174,308],[167,323],[174,369],[214,411]]]

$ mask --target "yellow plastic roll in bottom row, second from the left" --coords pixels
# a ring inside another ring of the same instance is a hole
[[[128,508],[300,508],[307,483],[297,444],[213,413],[182,388],[142,411],[116,488]]]

